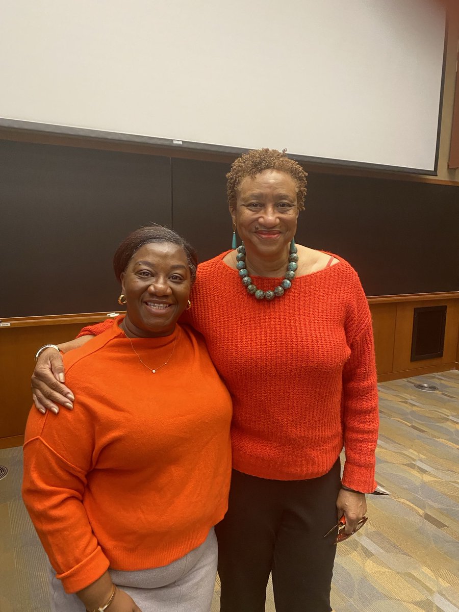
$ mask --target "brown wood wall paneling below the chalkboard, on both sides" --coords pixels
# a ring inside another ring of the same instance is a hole
[[[414,296],[370,297],[375,332],[378,380],[459,369],[459,292]],[[446,305],[443,357],[411,362],[414,308]],[[106,313],[3,319],[0,328],[0,448],[22,444],[32,403],[30,376],[39,346],[75,337],[81,327],[106,318]]]

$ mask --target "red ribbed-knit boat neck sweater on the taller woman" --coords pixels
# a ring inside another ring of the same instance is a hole
[[[266,479],[310,479],[326,474],[344,446],[343,485],[373,491],[375,352],[356,271],[329,253],[337,264],[294,278],[271,302],[258,301],[223,261],[228,253],[198,266],[185,315],[233,397],[233,468]],[[251,277],[264,291],[282,281]]]

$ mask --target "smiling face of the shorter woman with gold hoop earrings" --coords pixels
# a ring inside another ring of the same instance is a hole
[[[171,242],[149,242],[134,253],[121,275],[127,304],[123,328],[130,337],[167,336],[190,296],[184,250]]]

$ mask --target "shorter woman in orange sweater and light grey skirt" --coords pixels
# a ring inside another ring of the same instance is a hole
[[[210,610],[231,398],[201,335],[177,325],[196,264],[171,230],[130,234],[114,256],[127,314],[64,358],[75,411],[29,416],[23,499],[53,610]]]

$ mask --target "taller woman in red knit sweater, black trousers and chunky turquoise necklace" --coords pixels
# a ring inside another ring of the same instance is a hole
[[[185,313],[233,397],[230,501],[216,530],[221,612],[263,612],[270,572],[277,612],[329,612],[337,530],[324,535],[337,517],[354,532],[375,488],[370,311],[344,259],[294,245],[305,176],[278,151],[236,159],[228,201],[244,242],[200,265]],[[35,370],[37,408],[71,406],[59,379],[59,354],[47,351]]]

